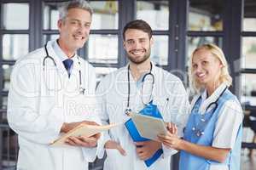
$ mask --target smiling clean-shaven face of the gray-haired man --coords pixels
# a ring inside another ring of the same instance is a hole
[[[90,33],[90,13],[81,8],[70,8],[67,17],[58,21],[60,38],[64,48],[76,51],[84,46]]]

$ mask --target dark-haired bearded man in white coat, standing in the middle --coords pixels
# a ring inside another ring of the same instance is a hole
[[[177,123],[181,134],[188,117],[188,96],[179,78],[150,61],[151,27],[143,20],[133,20],[126,24],[123,38],[128,65],[104,77],[96,90],[102,123],[126,122],[130,118],[127,112],[141,111],[153,100],[164,121]],[[171,156],[177,152],[153,140],[133,142],[125,125],[104,134],[103,147],[107,152],[105,170],[170,170]],[[147,167],[144,160],[160,148],[163,154]]]

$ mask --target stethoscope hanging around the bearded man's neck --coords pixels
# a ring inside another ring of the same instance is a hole
[[[143,87],[144,87],[144,81],[146,79],[146,77],[151,77],[152,78],[152,88],[151,88],[151,93],[150,93],[150,96],[149,96],[149,101],[152,97],[152,93],[153,93],[153,88],[154,88],[154,75],[152,74],[152,63],[150,63],[150,71],[148,73],[146,73],[144,76],[143,76],[143,80],[142,80],[142,101],[143,101],[143,105],[147,105],[148,103],[144,102],[143,100]],[[130,108],[130,65],[128,65],[128,68],[127,68],[127,79],[128,79],[128,96],[127,96],[127,105],[126,105],[126,109],[125,109],[125,115],[127,116],[130,116],[131,114],[131,108]]]

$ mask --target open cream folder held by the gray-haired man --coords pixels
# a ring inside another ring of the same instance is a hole
[[[110,128],[118,127],[120,124],[121,123],[101,125],[101,126],[80,124],[79,126],[74,127],[72,130],[70,130],[68,133],[63,134],[59,139],[56,139],[50,145],[52,145],[52,146],[61,146],[61,145],[65,144],[66,139],[71,137],[71,136],[90,137],[90,136],[92,136],[96,133],[102,133],[103,131],[107,131]]]

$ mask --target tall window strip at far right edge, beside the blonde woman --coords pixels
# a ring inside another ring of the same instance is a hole
[[[256,105],[256,4],[245,0],[241,45],[241,102]]]

